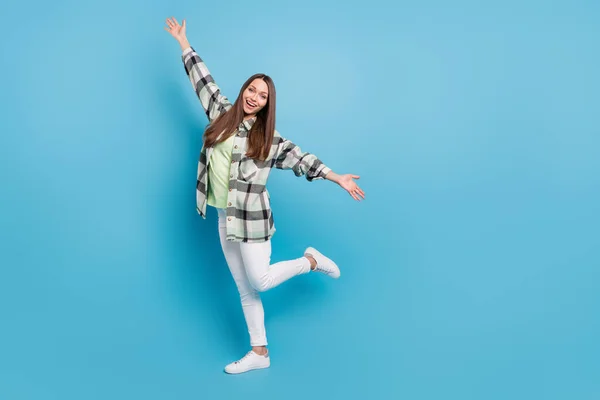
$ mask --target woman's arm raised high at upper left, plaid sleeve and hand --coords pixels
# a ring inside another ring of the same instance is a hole
[[[221,89],[215,83],[204,61],[194,50],[185,35],[185,19],[179,25],[175,18],[167,18],[165,30],[178,42],[182,50],[181,59],[192,87],[206,112],[209,123],[231,108],[231,102],[221,94]]]

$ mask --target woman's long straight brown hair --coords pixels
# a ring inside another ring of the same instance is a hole
[[[242,95],[250,83],[255,79],[262,79],[269,88],[267,104],[256,114],[256,121],[248,132],[248,148],[246,155],[265,161],[273,144],[275,134],[275,85],[273,80],[265,74],[254,74],[242,85],[233,107],[217,117],[204,132],[204,146],[211,147],[227,140],[238,128],[244,119],[244,100]],[[217,141],[221,132],[223,136]]]

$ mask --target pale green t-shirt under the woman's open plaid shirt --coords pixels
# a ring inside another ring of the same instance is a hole
[[[216,208],[227,208],[229,190],[229,170],[231,169],[231,151],[233,138],[215,145],[208,163],[208,196],[207,204]]]

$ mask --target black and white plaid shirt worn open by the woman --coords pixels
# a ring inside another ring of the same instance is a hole
[[[206,65],[192,47],[184,50],[182,61],[192,87],[200,99],[209,123],[233,105],[221,94]],[[235,132],[229,193],[227,195],[227,240],[234,242],[264,242],[275,233],[273,213],[266,184],[273,167],[291,169],[308,181],[324,179],[331,171],[315,155],[283,138],[277,130],[269,156],[265,161],[246,156],[247,138],[255,119],[242,121]],[[202,146],[196,182],[196,210],[206,219],[207,168],[212,147]]]

